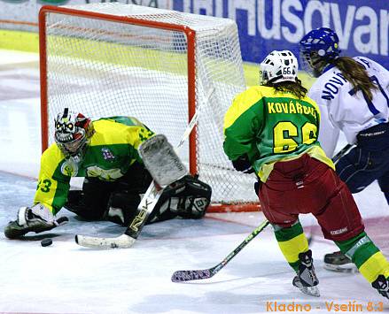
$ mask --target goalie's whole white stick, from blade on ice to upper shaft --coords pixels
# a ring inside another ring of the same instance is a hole
[[[213,94],[214,88],[211,88],[206,95],[206,101],[204,103],[207,103]],[[202,110],[204,103],[201,103],[198,106],[198,110],[195,112],[191,122],[186,127],[183,133],[183,137],[176,146],[175,150],[180,149],[183,146],[183,142],[185,142],[188,136],[191,134],[193,127],[198,122],[198,112]],[[136,238],[142,231],[147,218],[150,216],[155,208],[155,205],[158,203],[159,196],[162,195],[162,192],[163,189],[157,188],[154,184],[154,181],[152,181],[152,184],[147,189],[141,203],[139,203],[137,207],[138,214],[136,215],[136,218],[131,221],[124,234],[114,238],[92,237],[88,235],[76,234],[74,238],[75,242],[82,247],[93,249],[127,249],[132,247],[136,241]]]

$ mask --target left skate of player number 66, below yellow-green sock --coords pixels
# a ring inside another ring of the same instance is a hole
[[[293,286],[298,287],[304,294],[320,296],[319,288],[315,287],[319,284],[319,280],[315,274],[312,251],[309,249],[305,253],[300,253],[299,259],[299,272],[297,272],[297,276],[293,278]]]

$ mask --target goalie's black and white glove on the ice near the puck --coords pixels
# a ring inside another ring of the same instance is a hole
[[[33,207],[21,207],[18,218],[5,226],[4,234],[9,239],[17,239],[29,232],[36,234],[51,230],[56,226],[64,225],[68,218],[54,218],[51,211],[41,203]]]

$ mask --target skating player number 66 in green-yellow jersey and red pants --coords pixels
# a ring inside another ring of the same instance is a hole
[[[239,94],[225,115],[224,151],[237,170],[257,173],[261,209],[296,272],[295,287],[319,295],[312,252],[299,221],[300,213],[312,213],[324,237],[389,298],[389,263],[364,232],[353,196],[317,141],[320,111],[306,96],[297,71],[289,50],[265,58],[261,86]]]

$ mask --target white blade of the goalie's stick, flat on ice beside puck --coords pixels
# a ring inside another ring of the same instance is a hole
[[[116,238],[97,238],[77,234],[74,240],[78,245],[91,249],[128,249],[136,241],[127,234],[121,234]]]

